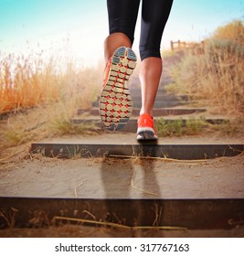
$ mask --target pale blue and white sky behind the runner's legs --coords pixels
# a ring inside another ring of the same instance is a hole
[[[235,18],[243,20],[243,14],[244,0],[175,0],[162,48],[170,40],[202,40]],[[139,23],[140,18],[135,51]],[[106,0],[0,0],[0,51],[5,53],[26,53],[38,45],[90,64],[102,58],[107,35]]]

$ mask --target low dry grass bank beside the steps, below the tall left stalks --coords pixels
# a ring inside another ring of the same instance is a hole
[[[0,163],[17,155],[20,148],[28,151],[29,143],[65,134],[97,133],[98,128],[87,124],[73,124],[70,118],[77,111],[74,105],[62,102],[11,114],[0,121]]]

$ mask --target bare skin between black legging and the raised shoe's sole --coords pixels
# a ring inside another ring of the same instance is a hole
[[[104,59],[105,63],[111,58],[113,52],[120,47],[132,48],[132,42],[123,33],[113,33],[104,41]]]

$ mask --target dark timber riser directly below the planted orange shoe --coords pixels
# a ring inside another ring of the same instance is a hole
[[[103,157],[120,156],[150,156],[174,159],[207,159],[219,156],[239,155],[244,151],[244,144],[164,144],[158,142],[134,142],[127,143],[120,137],[114,142],[102,144],[99,138],[91,142],[81,140],[70,143],[65,142],[40,142],[31,144],[32,153],[42,154],[48,157],[72,158],[72,157]]]

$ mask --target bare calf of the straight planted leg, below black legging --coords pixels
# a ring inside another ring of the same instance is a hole
[[[139,78],[142,90],[142,109],[140,114],[153,116],[154,101],[163,69],[162,59],[149,57],[143,59]]]

